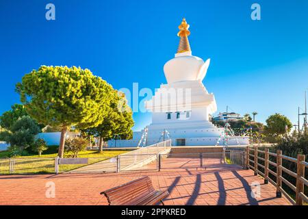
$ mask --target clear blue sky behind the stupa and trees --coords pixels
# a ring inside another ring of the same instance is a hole
[[[47,3],[55,21],[45,18]],[[253,3],[261,21],[251,20]],[[257,111],[261,122],[279,112],[297,123],[308,88],[307,14],[307,0],[1,0],[0,114],[19,102],[15,84],[42,64],[89,68],[117,89],[159,88],[185,17],[192,54],[211,58],[203,83],[218,112],[229,105]],[[133,117],[135,130],[151,123],[149,113]]]

